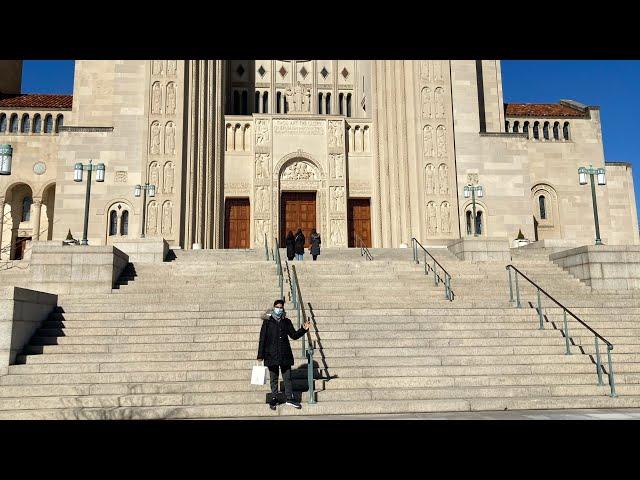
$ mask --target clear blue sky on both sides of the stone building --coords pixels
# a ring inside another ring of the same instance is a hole
[[[73,63],[25,61],[22,91],[72,93]],[[505,102],[553,103],[567,98],[599,105],[605,158],[633,164],[636,203],[640,206],[640,142],[635,142],[640,61],[505,60],[502,80]]]

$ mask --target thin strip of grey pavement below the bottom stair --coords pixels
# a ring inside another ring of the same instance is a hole
[[[265,408],[268,408],[265,405]],[[278,409],[288,408],[279,406]],[[302,406],[305,408],[306,405]],[[245,420],[640,420],[640,408],[508,410],[493,412],[413,413],[400,415],[309,415],[250,417]],[[237,420],[237,419],[234,419]]]

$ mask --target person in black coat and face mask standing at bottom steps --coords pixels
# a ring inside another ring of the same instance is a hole
[[[291,386],[291,367],[293,366],[293,352],[289,345],[289,338],[297,340],[301,338],[311,323],[307,320],[300,330],[293,328],[291,320],[284,313],[284,301],[276,300],[273,303],[273,312],[262,316],[262,328],[260,329],[260,343],[258,345],[258,361],[264,360],[264,365],[269,368],[271,380],[272,398],[269,402],[271,410],[276,409],[278,395],[278,369],[282,371],[284,391],[287,397],[287,405],[302,408],[300,403],[293,398]]]

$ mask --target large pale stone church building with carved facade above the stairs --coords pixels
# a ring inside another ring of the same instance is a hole
[[[2,259],[33,239],[163,237],[250,248],[316,227],[323,246],[447,244],[479,235],[638,244],[631,166],[605,162],[598,107],[505,104],[494,60],[150,60],[75,63],[73,95],[20,94],[21,62],[0,62]],[[477,222],[464,185],[482,185]],[[146,205],[136,184],[156,185]],[[143,216],[143,208],[144,216]],[[142,224],[142,219],[144,225]]]

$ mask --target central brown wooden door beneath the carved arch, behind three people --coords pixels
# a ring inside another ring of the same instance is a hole
[[[280,245],[285,245],[285,238],[289,230],[295,235],[302,229],[305,247],[311,245],[309,237],[316,226],[316,193],[315,192],[284,192],[280,202]],[[318,232],[322,235],[322,232]]]

